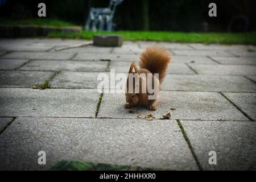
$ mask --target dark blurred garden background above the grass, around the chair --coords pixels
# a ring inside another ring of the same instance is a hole
[[[46,3],[47,17],[71,24],[83,25],[90,7],[107,7],[109,0],[6,0],[0,7],[1,18],[38,18],[39,2]],[[208,16],[210,2],[217,4],[217,17]],[[254,0],[124,0],[117,6],[114,16],[115,30],[226,32],[230,21],[237,15],[245,15],[249,22],[246,31],[256,30],[256,1]],[[244,20],[237,20],[232,32],[245,30]]]

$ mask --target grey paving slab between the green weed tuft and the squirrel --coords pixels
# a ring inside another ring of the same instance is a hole
[[[105,72],[106,73],[106,72]],[[109,73],[106,73],[109,75]],[[60,72],[49,84],[51,88],[90,88],[97,89],[101,80],[100,72]]]

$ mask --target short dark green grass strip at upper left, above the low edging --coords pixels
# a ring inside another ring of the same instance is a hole
[[[72,23],[65,22],[58,19],[49,19],[49,18],[38,18],[38,19],[5,19],[0,18],[0,24],[11,24],[11,25],[36,25],[36,26],[55,26],[55,27],[68,27],[75,26]]]

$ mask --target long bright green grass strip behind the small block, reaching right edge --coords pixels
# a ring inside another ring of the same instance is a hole
[[[119,34],[124,40],[152,40],[179,43],[217,43],[217,44],[256,44],[256,32],[247,33],[196,33],[196,32],[163,32],[163,31],[115,31],[80,33],[51,32],[51,38],[92,39],[96,34]]]

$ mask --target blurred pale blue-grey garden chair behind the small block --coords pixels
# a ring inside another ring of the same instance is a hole
[[[115,9],[122,3],[123,0],[110,0],[109,7],[90,9],[88,19],[85,23],[85,30],[97,31],[97,24],[99,30],[103,31],[106,23],[106,30],[113,31],[113,17]]]

